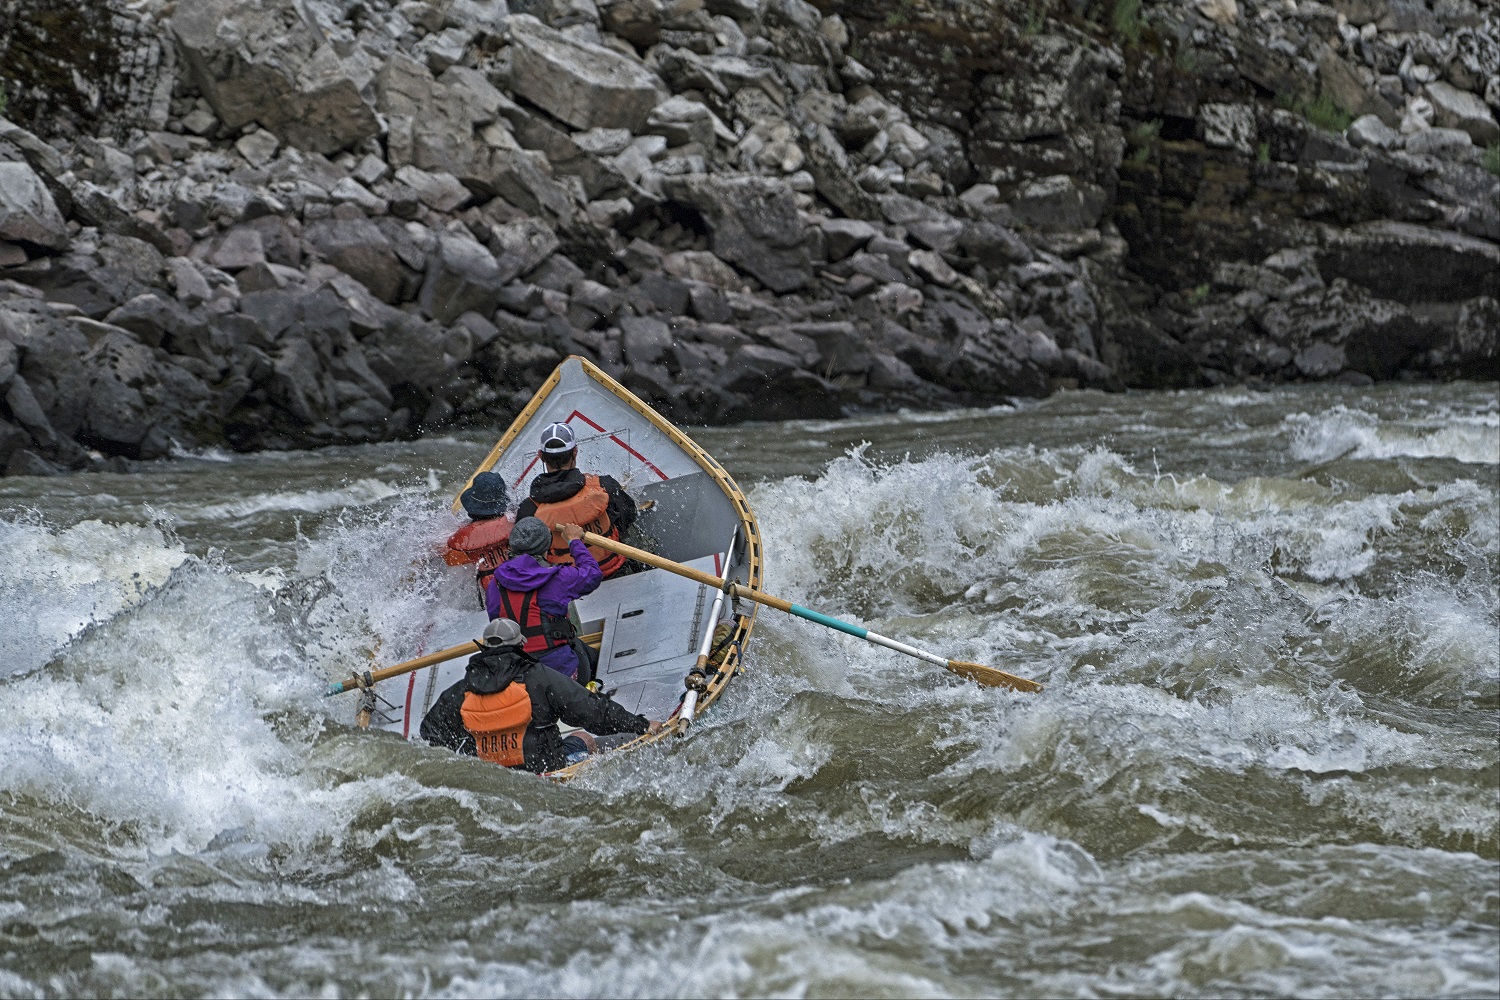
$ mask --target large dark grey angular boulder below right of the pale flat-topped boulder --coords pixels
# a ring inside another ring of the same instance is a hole
[[[789,292],[813,277],[806,225],[795,192],[764,177],[668,177],[663,192],[698,210],[714,234],[714,255],[748,271],[771,291]]]

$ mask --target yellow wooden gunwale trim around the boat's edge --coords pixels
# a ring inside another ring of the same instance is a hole
[[[510,427],[506,429],[506,433],[501,435],[500,441],[495,442],[495,447],[489,450],[488,456],[484,456],[484,460],[478,465],[478,468],[474,469],[474,472],[464,483],[464,489],[459,490],[459,496],[462,496],[464,490],[466,490],[474,483],[476,475],[494,468],[494,465],[500,460],[500,456],[506,453],[506,448],[508,448],[514,442],[522,427],[531,423],[531,418],[537,414],[538,409],[542,409],[542,405],[546,402],[548,396],[550,396],[552,390],[555,390],[558,384],[562,381],[562,364],[566,364],[570,360],[576,360],[579,366],[584,369],[584,373],[588,375],[588,378],[596,381],[603,388],[609,390],[615,397],[620,399],[620,402],[630,406],[630,409],[645,417],[646,421],[651,423],[651,426],[664,433],[672,441],[672,444],[686,451],[698,463],[698,466],[704,469],[704,472],[706,472],[710,478],[714,480],[718,489],[723,490],[724,496],[729,498],[729,502],[734,504],[735,513],[740,516],[740,535],[741,535],[740,544],[744,547],[746,553],[747,583],[754,589],[760,589],[760,577],[765,568],[765,556],[760,547],[760,525],[759,522],[756,522],[754,513],[750,510],[748,502],[746,502],[746,496],[744,492],[740,489],[740,484],[735,483],[734,477],[730,477],[729,472],[724,471],[724,466],[722,466],[718,460],[714,459],[714,456],[704,451],[704,448],[700,448],[696,441],[682,433],[682,430],[680,430],[676,424],[666,420],[662,414],[652,409],[645,400],[642,400],[628,388],[616,382],[602,367],[598,367],[588,358],[576,354],[568,355],[567,358],[560,361],[558,366],[552,370],[552,375],[549,375],[548,379],[537,390],[537,394],[531,397],[531,402],[526,403],[526,406],[519,414],[516,414],[516,418],[510,423]],[[459,496],[453,498],[454,511],[462,510]],[[734,619],[735,630],[729,639],[729,652],[724,657],[723,664],[718,667],[718,673],[714,675],[712,681],[710,681],[708,690],[705,690],[699,696],[698,715],[702,715],[710,708],[712,708],[712,705],[718,700],[718,696],[723,694],[726,687],[729,687],[729,681],[735,676],[735,673],[738,673],[744,657],[744,648],[746,643],[750,640],[750,631],[754,628],[754,618],[759,610],[760,610],[759,604],[752,604],[748,613],[735,616]],[[674,738],[672,732],[663,729],[656,736],[639,736],[630,741],[628,744],[620,747],[614,753],[621,753],[626,750],[639,750],[640,747],[650,747],[672,738]],[[614,753],[610,756],[614,756]],[[552,771],[548,774],[548,777],[555,778],[558,781],[567,781],[570,778],[578,777],[580,771],[584,771],[585,768],[602,759],[603,757],[590,757],[588,760],[580,760],[576,765]]]

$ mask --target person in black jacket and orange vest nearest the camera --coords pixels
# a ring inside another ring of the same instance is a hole
[[[590,733],[639,736],[662,729],[543,667],[522,648],[525,636],[510,619],[492,621],[480,645],[484,651],[470,657],[464,679],[440,694],[422,720],[429,744],[543,774],[597,753]],[[562,736],[560,721],[588,732]]]

